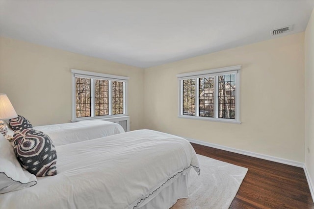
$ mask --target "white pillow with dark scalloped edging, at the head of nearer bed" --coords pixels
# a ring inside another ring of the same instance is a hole
[[[36,176],[26,171],[14,154],[10,142],[0,134],[0,194],[37,184]]]

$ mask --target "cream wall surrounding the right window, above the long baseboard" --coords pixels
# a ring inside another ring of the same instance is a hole
[[[178,118],[176,74],[242,65],[241,124]],[[304,33],[145,69],[145,128],[304,162]]]

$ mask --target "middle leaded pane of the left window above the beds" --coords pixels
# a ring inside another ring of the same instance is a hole
[[[108,81],[95,79],[95,116],[107,116],[108,114]]]

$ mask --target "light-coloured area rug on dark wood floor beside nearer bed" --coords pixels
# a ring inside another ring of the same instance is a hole
[[[201,175],[191,169],[189,198],[180,199],[171,209],[228,209],[247,168],[197,155]]]

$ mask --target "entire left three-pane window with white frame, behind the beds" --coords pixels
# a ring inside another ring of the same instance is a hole
[[[83,70],[72,72],[72,120],[127,115],[129,77]]]

